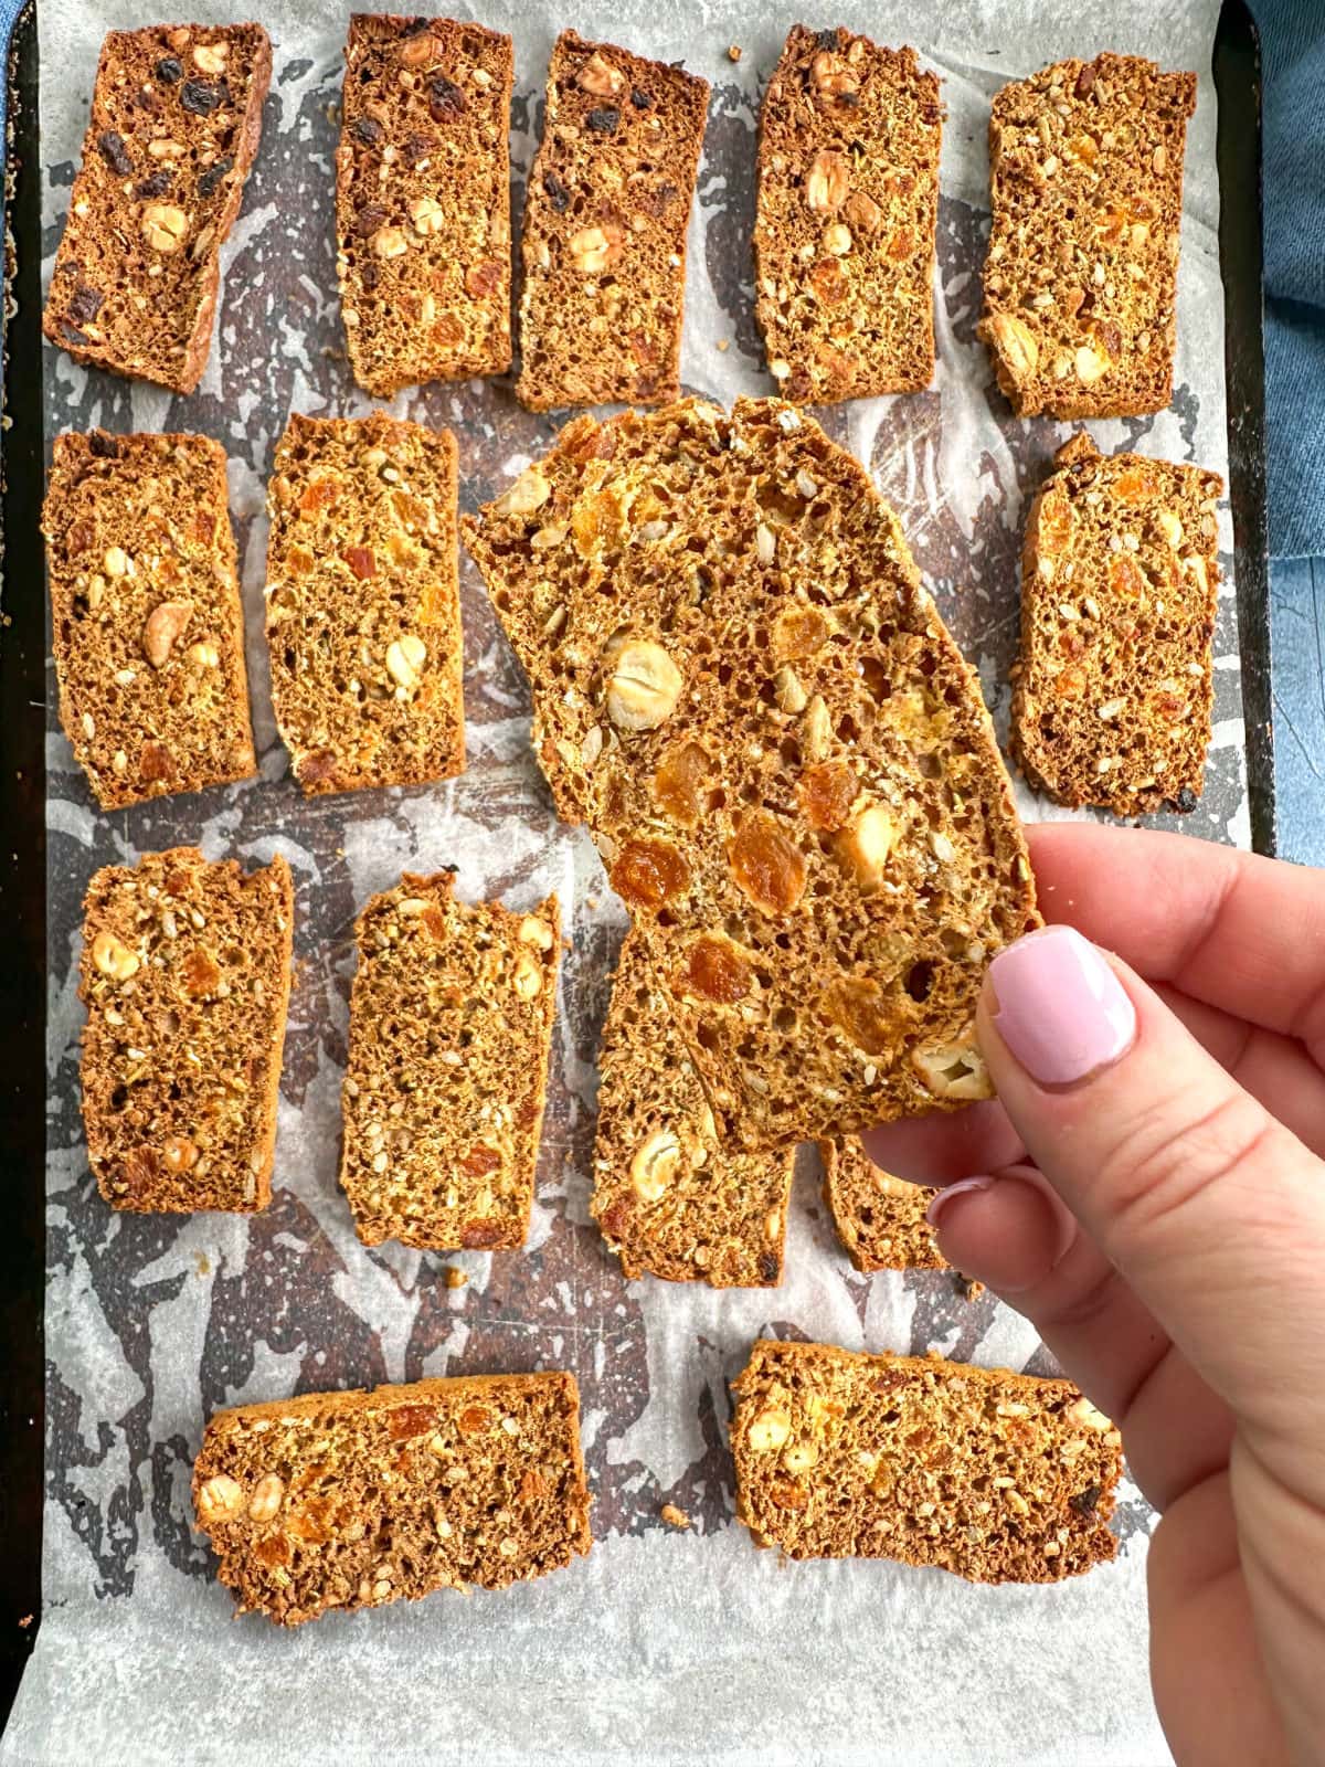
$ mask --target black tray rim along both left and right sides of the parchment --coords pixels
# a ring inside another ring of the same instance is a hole
[[[1219,270],[1224,288],[1230,504],[1253,848],[1276,852],[1270,590],[1265,511],[1261,51],[1246,0],[1224,0],[1219,99]],[[41,1629],[46,1283],[46,578],[41,339],[37,0],[5,55],[4,399],[0,452],[0,1733]],[[1251,143],[1251,152],[1247,152]],[[12,590],[21,585],[19,594]]]

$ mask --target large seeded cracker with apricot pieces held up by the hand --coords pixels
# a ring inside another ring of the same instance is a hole
[[[772,399],[583,417],[465,541],[719,1134],[986,1097],[972,1020],[1037,924],[1030,866],[979,684],[860,465]]]

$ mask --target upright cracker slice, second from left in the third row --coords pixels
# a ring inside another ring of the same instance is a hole
[[[560,917],[405,873],[355,922],[341,1187],[366,1246],[514,1251],[528,1237]]]

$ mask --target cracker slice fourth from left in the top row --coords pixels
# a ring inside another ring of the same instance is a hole
[[[791,27],[760,111],[754,316],[797,405],[929,385],[942,129],[913,49]]]

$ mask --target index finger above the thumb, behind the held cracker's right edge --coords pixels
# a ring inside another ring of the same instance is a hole
[[[1041,914],[1325,1066],[1325,871],[1157,829],[1026,829]]]

